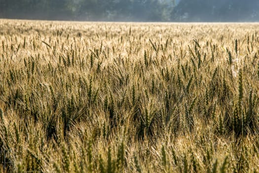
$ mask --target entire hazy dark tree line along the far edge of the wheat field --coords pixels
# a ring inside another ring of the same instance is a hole
[[[0,0],[0,18],[258,21],[259,0]]]

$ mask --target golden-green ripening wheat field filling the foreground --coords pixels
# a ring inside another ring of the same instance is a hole
[[[0,172],[258,173],[258,28],[1,19]]]

